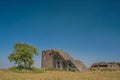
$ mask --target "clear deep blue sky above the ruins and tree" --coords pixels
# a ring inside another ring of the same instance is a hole
[[[0,68],[15,42],[67,51],[87,66],[120,61],[120,0],[0,0]],[[34,57],[40,67],[41,55]]]

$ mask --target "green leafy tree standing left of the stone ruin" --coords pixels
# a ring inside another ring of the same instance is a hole
[[[18,68],[30,69],[34,63],[33,55],[38,55],[38,49],[35,46],[16,42],[8,59],[10,62],[17,64]]]

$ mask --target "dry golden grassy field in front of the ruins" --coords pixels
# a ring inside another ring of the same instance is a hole
[[[120,71],[15,73],[9,70],[0,70],[0,80],[120,80]]]

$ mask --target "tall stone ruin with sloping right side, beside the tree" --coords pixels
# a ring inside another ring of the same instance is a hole
[[[59,49],[42,51],[42,68],[57,68],[60,70],[71,70],[85,72],[86,66],[80,61],[73,59],[67,52]]]

